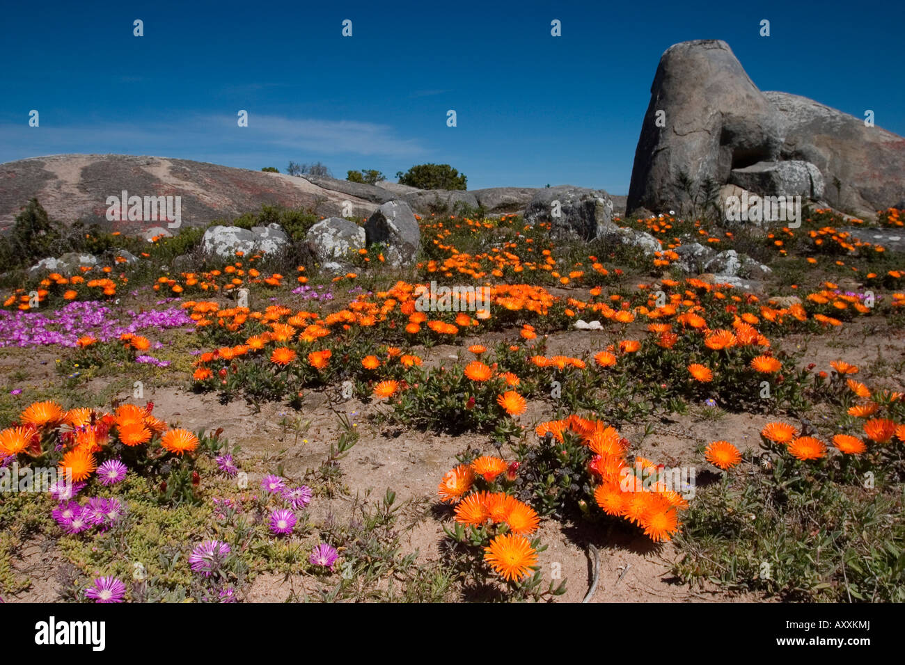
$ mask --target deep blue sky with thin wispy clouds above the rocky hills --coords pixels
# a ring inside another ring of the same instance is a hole
[[[469,189],[625,194],[660,55],[705,38],[727,41],[761,90],[872,109],[905,135],[900,2],[319,5],[7,3],[0,162],[125,153],[285,172],[319,160],[337,177],[435,162]]]

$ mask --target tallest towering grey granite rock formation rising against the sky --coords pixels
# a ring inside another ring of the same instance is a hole
[[[710,185],[801,195],[867,216],[905,196],[905,138],[814,100],[761,92],[729,45],[663,53],[635,150],[629,214],[682,209]]]

